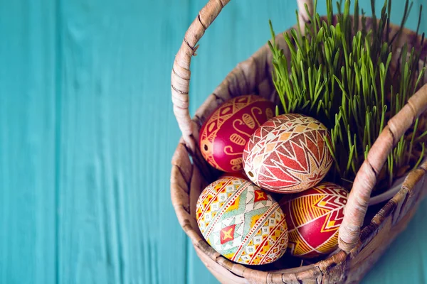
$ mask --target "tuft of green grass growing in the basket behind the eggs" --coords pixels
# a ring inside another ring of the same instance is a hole
[[[306,36],[300,31],[300,23],[297,29],[283,34],[290,60],[275,43],[271,22],[272,40],[268,44],[273,53],[273,82],[281,102],[276,114],[301,113],[322,121],[330,129],[332,139],[325,141],[334,159],[327,178],[349,187],[387,121],[424,84],[426,58],[420,68],[421,49],[408,50],[405,44],[399,51],[393,45],[411,11],[408,0],[399,32],[393,38],[389,38],[391,1],[384,2],[377,19],[371,0],[369,29],[363,9],[359,23],[359,1],[354,1],[354,20],[349,16],[349,0],[344,6],[342,1],[337,2],[335,15],[332,6],[332,0],[327,0],[327,20],[321,20],[316,0],[314,18],[310,16],[310,22],[305,24]],[[422,6],[417,35],[421,11]],[[335,25],[333,17],[337,20]],[[424,34],[421,45],[423,39]],[[393,67],[391,60],[396,56],[399,63]],[[421,162],[427,131],[422,133],[424,129],[418,123],[417,119],[387,158],[379,173],[378,188],[389,187],[396,177]],[[414,159],[413,151],[421,152],[421,156]]]

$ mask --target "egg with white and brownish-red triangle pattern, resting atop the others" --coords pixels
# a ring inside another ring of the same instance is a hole
[[[251,136],[243,151],[246,175],[256,185],[278,193],[307,190],[330,170],[327,128],[302,114],[269,119]]]

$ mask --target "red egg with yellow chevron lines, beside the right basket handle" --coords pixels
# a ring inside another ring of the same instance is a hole
[[[288,224],[288,252],[300,258],[314,258],[337,249],[347,197],[348,192],[332,182],[285,195],[280,207]]]

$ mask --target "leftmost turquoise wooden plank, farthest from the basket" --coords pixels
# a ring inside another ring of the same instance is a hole
[[[56,3],[0,9],[0,283],[56,281]]]

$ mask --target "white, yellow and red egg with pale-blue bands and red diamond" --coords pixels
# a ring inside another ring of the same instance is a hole
[[[249,180],[226,177],[208,185],[197,200],[196,220],[207,243],[237,263],[272,263],[288,246],[280,205]]]

